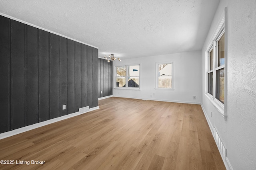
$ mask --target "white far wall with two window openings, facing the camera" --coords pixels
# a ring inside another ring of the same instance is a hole
[[[156,62],[162,61],[174,62],[174,90],[155,89]],[[126,64],[141,64],[140,90],[113,89],[113,96],[192,104],[201,103],[201,51],[122,59],[121,63],[118,61],[113,63],[114,66]],[[192,96],[197,96],[197,99],[193,100]]]

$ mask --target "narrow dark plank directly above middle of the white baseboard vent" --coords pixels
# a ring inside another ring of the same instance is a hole
[[[87,103],[87,45],[82,44],[81,56],[81,87],[82,87],[82,107],[88,106]]]

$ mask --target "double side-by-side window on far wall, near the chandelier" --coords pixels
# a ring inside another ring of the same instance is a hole
[[[140,65],[116,66],[116,88],[139,89]]]

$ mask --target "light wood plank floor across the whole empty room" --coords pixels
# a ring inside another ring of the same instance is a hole
[[[0,169],[226,169],[200,105],[108,98],[100,109],[0,140]]]

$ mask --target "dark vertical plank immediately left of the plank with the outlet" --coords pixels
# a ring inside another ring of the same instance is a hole
[[[59,117],[58,35],[50,33],[50,119]]]

